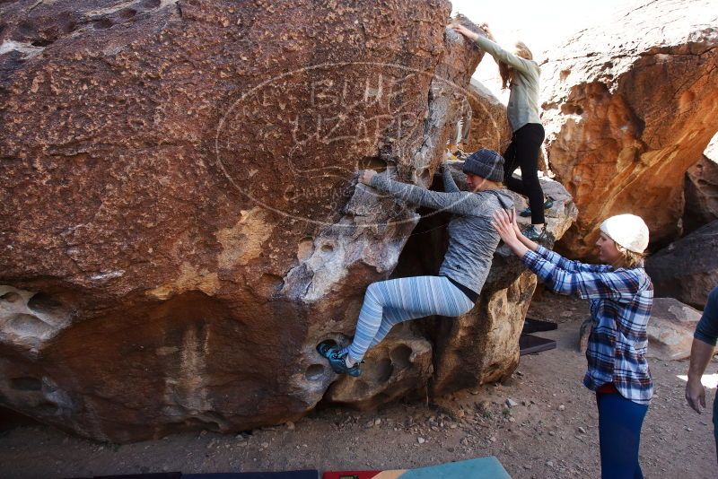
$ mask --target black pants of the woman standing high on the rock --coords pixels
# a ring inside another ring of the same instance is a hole
[[[544,192],[538,183],[538,152],[544,141],[544,127],[528,123],[513,132],[511,144],[503,153],[503,183],[510,190],[529,197],[531,223],[544,220]],[[521,168],[521,179],[513,178],[513,171]]]

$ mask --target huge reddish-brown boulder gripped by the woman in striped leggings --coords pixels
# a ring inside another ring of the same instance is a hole
[[[355,171],[432,181],[481,58],[450,11],[0,4],[0,404],[123,442],[426,388],[422,327],[372,352],[369,392],[328,391],[315,346],[400,255],[436,255],[407,256],[416,207]]]

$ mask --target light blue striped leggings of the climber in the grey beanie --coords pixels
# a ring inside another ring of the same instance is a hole
[[[434,314],[461,316],[473,307],[466,294],[444,276],[412,276],[372,283],[364,294],[354,342],[346,349],[349,357],[362,361],[366,351],[379,344],[397,323]]]

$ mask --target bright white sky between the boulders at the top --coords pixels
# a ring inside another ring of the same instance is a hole
[[[510,48],[516,40],[523,41],[540,63],[554,45],[579,30],[606,22],[615,13],[628,11],[635,0],[451,0],[451,4],[452,15],[463,13],[472,22],[488,23],[502,47]],[[481,61],[474,77],[504,103],[508,100],[508,91],[501,91],[498,67],[492,57]]]

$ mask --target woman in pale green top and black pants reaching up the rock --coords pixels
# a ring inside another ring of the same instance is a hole
[[[537,241],[542,238],[545,229],[544,208],[550,208],[552,202],[544,202],[544,193],[538,182],[538,153],[544,141],[544,127],[538,116],[538,77],[541,70],[532,58],[530,49],[523,43],[516,44],[515,52],[501,48],[492,39],[486,26],[488,38],[454,23],[453,30],[474,41],[478,48],[494,57],[499,65],[499,74],[503,88],[508,85],[510,95],[507,107],[509,124],[512,128],[512,140],[503,158],[503,182],[509,189],[529,198],[529,208],[521,216],[530,216],[531,224],[523,231],[528,239]],[[521,168],[521,179],[513,178],[513,171]]]

